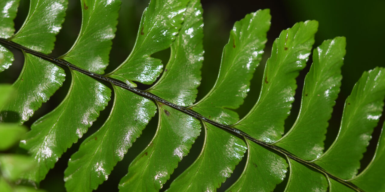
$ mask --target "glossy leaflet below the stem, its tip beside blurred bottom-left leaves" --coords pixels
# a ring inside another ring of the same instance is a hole
[[[69,93],[53,111],[31,126],[20,147],[27,149],[38,166],[25,179],[39,182],[59,157],[87,131],[110,100],[111,91],[95,79],[71,71]]]

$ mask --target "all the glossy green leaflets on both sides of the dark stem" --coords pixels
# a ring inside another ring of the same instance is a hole
[[[57,59],[104,74],[120,4],[119,0],[81,0],[79,36],[72,48]],[[1,42],[12,41],[49,54],[64,21],[67,1],[31,0],[23,26],[13,34],[17,7],[17,0],[0,3]],[[97,189],[157,112],[156,134],[129,165],[118,186],[121,191],[161,189],[201,133],[201,153],[167,191],[216,191],[242,158],[247,158],[243,173],[227,191],[273,191],[286,175],[289,176],[285,191],[385,190],[383,134],[372,162],[357,175],[360,159],[383,110],[383,68],[363,73],[346,99],[338,136],[325,151],[326,128],[340,91],[345,38],[326,40],[313,50],[300,113],[285,133],[284,122],[294,101],[296,77],[311,55],[318,22],[299,22],[281,32],[266,62],[259,98],[240,119],[232,109],[243,103],[264,53],[271,19],[269,10],[250,13],[234,24],[216,83],[203,99],[194,103],[204,53],[202,13],[199,0],[151,0],[142,15],[131,53],[118,68],[103,75],[132,87],[136,82],[153,84],[144,92],[195,111],[204,116],[201,119],[113,83],[110,89],[79,71],[70,69],[71,77],[66,78],[59,66],[23,51],[22,73],[11,86],[16,89],[15,96],[0,97],[0,102],[5,103],[0,105],[1,122],[22,124],[65,79],[70,79],[71,84],[62,103],[34,122],[20,141],[20,147],[28,151],[36,166],[28,167],[12,180],[21,178],[39,184],[62,154],[87,132],[113,96],[107,120],[82,142],[68,162],[64,173],[68,191]],[[165,66],[151,57],[169,47],[171,55]],[[6,70],[12,61],[12,52],[0,45],[0,71]],[[243,131],[248,137],[231,134],[211,124],[212,121]],[[6,124],[0,125],[1,128]],[[15,134],[4,132],[9,138]],[[1,178],[0,187],[4,183]]]

